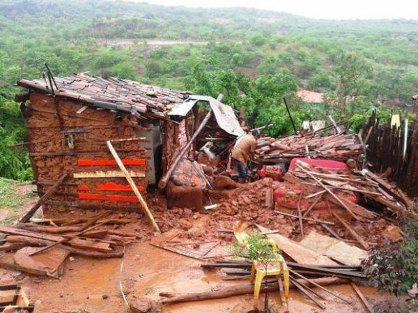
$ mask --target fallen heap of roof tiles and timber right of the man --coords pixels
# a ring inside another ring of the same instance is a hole
[[[345,130],[341,130],[345,128]],[[258,141],[256,160],[274,162],[277,159],[296,157],[348,160],[364,153],[364,144],[357,135],[348,133],[346,122],[326,128],[279,139],[263,137]]]

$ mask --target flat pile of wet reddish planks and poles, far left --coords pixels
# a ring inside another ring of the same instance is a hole
[[[36,263],[41,261],[42,254],[49,253],[51,259],[59,259],[54,256],[53,251],[56,249],[66,252],[65,257],[68,254],[98,258],[123,257],[125,245],[134,241],[135,237],[115,229],[115,226],[127,224],[130,220],[107,217],[109,213],[105,211],[84,217],[31,219],[33,222],[20,223],[14,227],[0,226],[0,233],[6,235],[0,241],[0,251],[17,251],[14,261],[5,261],[2,257],[0,266],[27,273],[49,275],[47,271],[26,266],[26,261],[30,259],[29,264],[32,261]],[[25,264],[19,263],[18,259],[22,258]],[[56,273],[52,276],[56,276]]]

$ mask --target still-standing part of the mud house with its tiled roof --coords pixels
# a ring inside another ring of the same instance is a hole
[[[27,121],[38,194],[45,194],[64,173],[70,175],[43,204],[48,215],[75,208],[138,211],[138,199],[106,142],[114,145],[139,192],[146,192],[199,128],[206,114],[196,105],[199,101],[208,102],[213,114],[185,158],[195,158],[213,138],[229,142],[243,132],[231,107],[211,97],[84,74],[48,78],[18,82],[29,89],[18,100]],[[198,167],[195,171],[195,176],[201,174]],[[175,189],[174,184],[168,189]],[[176,192],[171,194],[174,198]]]

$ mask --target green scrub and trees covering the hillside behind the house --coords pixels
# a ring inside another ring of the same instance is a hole
[[[418,86],[418,21],[311,20],[247,8],[198,9],[106,0],[0,0],[0,176],[27,179],[18,79],[90,72],[217,96],[245,106],[249,121],[272,120],[270,135],[295,121],[353,119],[372,109],[405,111]],[[154,45],[151,40],[192,44]],[[207,44],[194,41],[205,41]],[[297,89],[325,93],[327,109]],[[396,107],[385,107],[392,100]]]

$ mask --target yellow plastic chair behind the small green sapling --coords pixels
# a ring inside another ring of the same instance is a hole
[[[238,243],[244,247],[247,245],[247,238],[248,234],[245,232],[247,227],[249,226],[246,222],[237,222],[233,225],[233,234],[237,239]],[[277,250],[277,244],[272,239],[268,240],[268,243],[272,246],[274,250]],[[286,299],[286,306],[287,300],[289,298],[289,270],[284,261],[283,257],[279,255],[279,260],[275,262],[269,262],[267,268],[265,268],[265,264],[261,263],[260,261],[253,261],[251,266],[251,282],[254,282],[254,300],[258,299],[260,296],[261,284],[263,283],[263,279],[266,276],[277,276],[277,282],[279,282],[279,287],[281,285],[280,275],[283,275],[284,280],[284,298]]]

